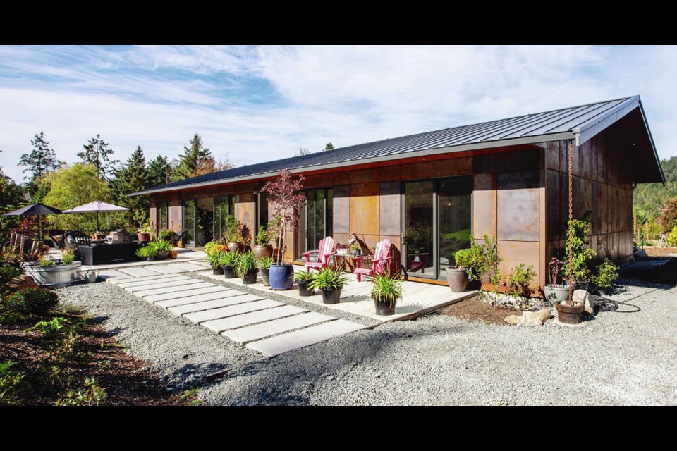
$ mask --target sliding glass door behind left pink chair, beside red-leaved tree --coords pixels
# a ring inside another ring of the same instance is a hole
[[[296,237],[296,258],[299,260],[303,258],[303,252],[317,249],[320,240],[334,233],[334,190],[308,190],[306,199],[299,212]]]

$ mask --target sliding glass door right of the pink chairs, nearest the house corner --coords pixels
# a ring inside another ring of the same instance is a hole
[[[403,257],[410,276],[443,278],[453,254],[470,247],[472,178],[403,184]]]

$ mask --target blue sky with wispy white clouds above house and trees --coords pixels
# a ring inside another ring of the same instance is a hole
[[[677,47],[0,47],[0,166],[44,130],[77,161],[101,133],[126,159],[195,132],[245,164],[640,94],[677,154]]]

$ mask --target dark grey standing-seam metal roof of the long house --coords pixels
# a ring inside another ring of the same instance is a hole
[[[414,153],[425,155],[461,152],[566,139],[578,139],[582,143],[637,107],[641,109],[640,97],[633,96],[500,119],[499,121],[444,128],[443,130],[389,138],[315,154],[293,156],[227,169],[226,171],[217,171],[131,195],[167,192],[188,187],[260,178],[277,173],[282,169],[301,172],[309,168],[331,168],[360,162],[384,161],[398,157],[406,158]],[[596,131],[587,136],[587,129]]]

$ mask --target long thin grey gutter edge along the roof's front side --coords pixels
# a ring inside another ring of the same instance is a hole
[[[550,135],[538,135],[538,136],[511,138],[509,140],[476,142],[476,143],[472,143],[472,144],[458,144],[456,146],[437,147],[437,148],[433,148],[433,149],[411,150],[409,152],[405,152],[405,153],[397,154],[397,155],[384,155],[384,156],[377,156],[377,157],[366,158],[366,159],[355,159],[355,160],[341,161],[339,163],[327,163],[327,164],[322,164],[322,165],[318,165],[318,166],[303,166],[303,167],[299,167],[299,168],[290,168],[289,171],[291,173],[312,172],[312,171],[320,171],[320,170],[324,170],[324,169],[333,169],[333,168],[343,168],[343,167],[346,167],[346,166],[355,166],[356,164],[378,163],[379,161],[393,161],[393,159],[408,158],[411,154],[415,154],[415,156],[429,156],[429,155],[439,155],[439,154],[446,154],[446,153],[476,151],[476,150],[482,150],[482,149],[493,149],[495,147],[515,147],[515,146],[520,146],[520,145],[525,145],[525,144],[538,144],[538,143],[550,142],[550,141],[572,140],[574,138],[575,138],[575,134],[574,134],[573,131],[559,132],[559,133],[552,133]],[[181,191],[181,190],[186,190],[186,189],[190,189],[190,188],[200,188],[200,187],[207,187],[207,186],[213,186],[213,185],[225,185],[225,184],[229,184],[229,183],[246,182],[248,180],[257,180],[257,179],[260,179],[260,178],[274,177],[278,173],[279,173],[279,171],[273,171],[273,172],[267,172],[267,173],[245,175],[243,177],[224,178],[224,179],[221,179],[221,180],[210,180],[209,182],[193,183],[193,184],[189,184],[189,185],[181,185],[181,187],[166,187],[166,188],[157,188],[157,189],[151,188],[150,190],[133,192],[131,194],[128,194],[127,196],[128,197],[135,197],[135,196],[143,196],[143,195],[147,195],[147,194],[159,194],[159,193],[162,193],[162,192],[175,192],[175,191]]]

